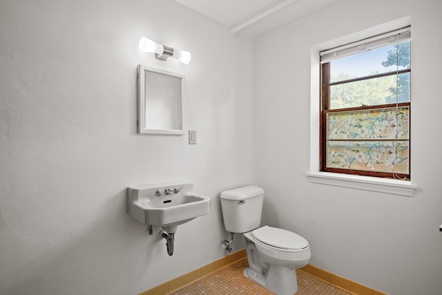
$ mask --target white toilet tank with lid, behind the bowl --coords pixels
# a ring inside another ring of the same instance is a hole
[[[264,189],[249,185],[221,193],[224,227],[232,233],[245,233],[261,224]]]

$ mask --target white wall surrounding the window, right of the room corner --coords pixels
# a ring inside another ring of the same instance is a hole
[[[312,265],[392,295],[442,290],[441,11],[439,0],[347,0],[257,40],[265,222],[307,238]],[[409,198],[308,182],[310,100],[318,99],[311,51],[403,17],[412,23],[411,166],[419,189]]]

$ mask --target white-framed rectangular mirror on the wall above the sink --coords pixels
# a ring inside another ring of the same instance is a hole
[[[184,135],[184,75],[138,66],[138,133]]]

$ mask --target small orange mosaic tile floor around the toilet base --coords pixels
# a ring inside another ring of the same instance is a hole
[[[247,258],[238,260],[219,269],[218,271],[205,276],[200,280],[171,292],[170,295],[194,295],[194,294],[249,294],[249,295],[271,295],[274,294],[265,289],[242,274],[242,270],[248,266]],[[298,274],[298,292],[296,295],[352,295],[342,289],[338,289],[332,285],[324,283],[312,276],[304,274],[303,272],[296,272]]]

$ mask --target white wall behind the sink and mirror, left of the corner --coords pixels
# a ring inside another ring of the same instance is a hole
[[[137,135],[138,64],[186,75],[197,145]],[[253,40],[172,0],[0,0],[0,65],[1,294],[138,294],[225,255],[220,192],[257,180]],[[212,202],[169,257],[126,188],[175,180]]]

